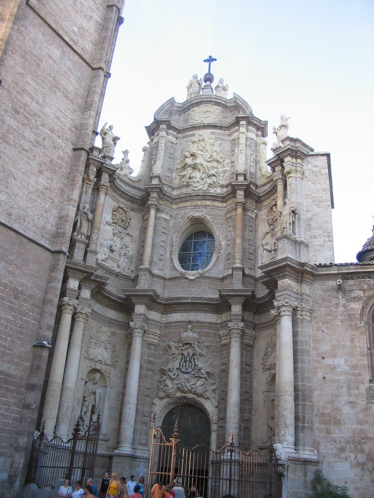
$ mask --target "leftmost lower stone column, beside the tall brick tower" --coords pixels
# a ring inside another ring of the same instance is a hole
[[[53,435],[54,426],[56,424],[67,346],[69,344],[71,318],[77,304],[78,301],[76,299],[70,299],[68,297],[63,297],[59,302],[61,317],[53,351],[48,385],[45,392],[43,415],[41,418],[41,423],[45,423],[45,433],[48,436]]]

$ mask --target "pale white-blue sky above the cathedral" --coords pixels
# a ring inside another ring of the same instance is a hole
[[[212,55],[213,85],[268,121],[269,147],[285,114],[290,136],[331,153],[335,261],[356,261],[374,215],[374,1],[127,0],[123,16],[100,119],[121,137],[113,163],[128,149],[138,171],[144,126]]]

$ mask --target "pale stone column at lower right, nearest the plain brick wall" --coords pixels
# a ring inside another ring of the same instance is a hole
[[[295,403],[292,314],[297,303],[284,298],[274,301],[277,317],[275,377],[275,438],[286,453],[295,452]]]

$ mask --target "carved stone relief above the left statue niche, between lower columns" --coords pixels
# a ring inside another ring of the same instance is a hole
[[[95,363],[117,366],[116,343],[110,338],[110,330],[102,325],[88,339],[84,357]]]

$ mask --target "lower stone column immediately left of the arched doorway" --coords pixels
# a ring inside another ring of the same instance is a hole
[[[131,343],[130,361],[127,370],[125,396],[122,407],[122,421],[120,428],[117,453],[132,452],[136,405],[138,400],[139,372],[142,353],[143,335],[146,331],[144,322],[130,322],[133,340]]]

